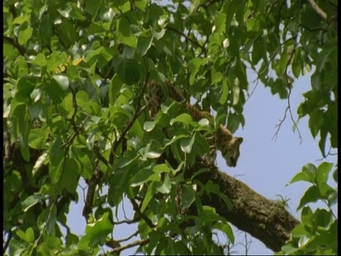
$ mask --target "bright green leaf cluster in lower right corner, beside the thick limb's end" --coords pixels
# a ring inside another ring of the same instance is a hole
[[[318,168],[307,164],[288,183],[306,181],[312,186],[305,191],[297,208],[302,208],[302,223],[293,229],[291,239],[276,255],[337,255],[337,217],[332,212],[332,206],[337,203],[337,188],[328,185],[331,170],[332,164],[328,162]],[[328,206],[328,210],[317,208],[313,211],[307,206],[319,200]]]

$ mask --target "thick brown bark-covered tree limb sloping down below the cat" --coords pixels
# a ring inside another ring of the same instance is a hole
[[[202,167],[207,166],[198,164],[190,172]],[[215,194],[202,196],[202,205],[214,207],[229,223],[261,240],[274,252],[281,250],[293,228],[299,224],[283,206],[259,195],[242,181],[222,173],[216,166],[210,166],[210,172],[199,174],[197,179],[204,184],[211,180],[220,186],[220,191],[229,197],[234,208],[229,211],[224,201]],[[190,210],[195,211],[194,208]]]

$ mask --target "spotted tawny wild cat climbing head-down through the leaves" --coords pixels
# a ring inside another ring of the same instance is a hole
[[[200,110],[194,105],[191,105],[188,100],[185,99],[182,93],[178,91],[173,82],[166,80],[163,82],[168,89],[168,97],[171,97],[176,102],[188,110],[188,113],[192,116],[195,122],[199,122],[201,119],[212,120],[214,117],[210,112]],[[148,88],[144,93],[144,100],[146,106],[149,109],[149,115],[153,118],[156,116],[158,111],[161,109],[161,104],[166,100],[166,94],[163,92],[163,87],[160,82],[152,80],[148,83]],[[237,161],[240,155],[240,145],[243,142],[242,137],[234,137],[232,132],[220,124],[217,127],[215,137],[209,140],[211,146],[215,146],[217,150],[222,153],[222,157],[225,159],[227,166],[237,166]],[[214,145],[212,145],[214,144]]]

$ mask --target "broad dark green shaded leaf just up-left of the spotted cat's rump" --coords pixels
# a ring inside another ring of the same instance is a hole
[[[139,82],[140,71],[136,60],[124,59],[120,55],[115,55],[113,58],[113,65],[122,82],[127,85],[134,85]]]

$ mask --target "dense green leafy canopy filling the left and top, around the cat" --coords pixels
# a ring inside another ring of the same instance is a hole
[[[229,199],[214,184],[202,187],[183,175],[197,156],[210,154],[204,137],[212,128],[193,122],[171,99],[151,121],[143,102],[146,84],[173,80],[188,99],[215,110],[217,124],[234,132],[245,124],[247,68],[288,104],[295,78],[313,70],[298,115],[309,115],[310,131],[320,134],[326,156],[328,138],[337,149],[337,1],[318,1],[322,13],[311,3],[4,1],[9,255],[95,255],[104,244],[117,249],[110,234],[119,224],[112,216],[124,197],[136,211],[141,252],[221,254],[213,230],[231,241],[233,233],[215,209],[201,205],[197,188],[227,204]],[[158,161],[171,152],[175,166]],[[316,180],[310,174],[296,178],[314,183],[300,208],[317,199],[334,202],[328,197],[333,189],[323,185],[328,168],[321,169]],[[83,210],[85,235],[77,238],[66,220],[82,179],[92,200]],[[102,187],[109,192],[101,197]],[[186,195],[183,206],[197,207],[197,216],[178,212],[179,189]],[[303,210],[307,221],[330,214]],[[188,221],[195,225],[183,231],[180,226]],[[333,223],[323,223],[323,230],[308,225],[310,236],[303,235],[309,245],[333,230]]]

